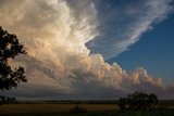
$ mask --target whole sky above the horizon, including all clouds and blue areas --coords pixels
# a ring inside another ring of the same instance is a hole
[[[20,100],[174,99],[173,0],[0,0],[0,25],[26,55]],[[17,8],[17,9],[16,9]]]

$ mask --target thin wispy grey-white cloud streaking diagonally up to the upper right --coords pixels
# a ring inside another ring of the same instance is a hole
[[[127,1],[117,7],[112,1],[101,1],[104,3],[96,3],[100,35],[89,41],[87,47],[91,53],[100,53],[104,59],[112,59],[126,51],[153,24],[163,21],[173,10],[172,0]]]

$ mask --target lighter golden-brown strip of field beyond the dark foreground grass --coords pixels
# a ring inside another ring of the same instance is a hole
[[[67,113],[76,104],[4,104],[0,106],[1,113]],[[88,112],[116,111],[119,107],[114,104],[79,104]]]

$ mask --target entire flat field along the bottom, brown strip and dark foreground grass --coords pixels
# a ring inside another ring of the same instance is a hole
[[[169,109],[161,111],[120,111],[116,104],[78,103],[86,113],[72,114],[76,103],[18,103],[0,105],[0,116],[174,116],[174,103],[160,102]]]

